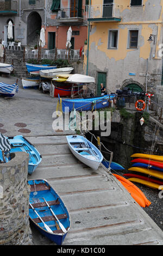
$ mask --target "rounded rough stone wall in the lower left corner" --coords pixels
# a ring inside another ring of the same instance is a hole
[[[27,185],[28,154],[0,164],[0,245],[32,245]]]

